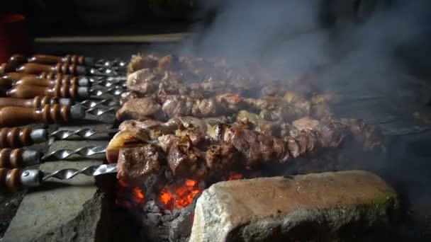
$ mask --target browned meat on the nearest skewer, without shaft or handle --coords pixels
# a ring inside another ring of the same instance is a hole
[[[318,125],[315,130],[303,130],[296,137],[277,139],[249,129],[215,125],[211,138],[217,142],[212,144],[204,138],[194,140],[190,132],[170,135],[169,139],[159,139],[159,145],[141,144],[121,149],[118,178],[128,184],[142,184],[151,175],[169,168],[176,177],[201,179],[238,166],[252,169],[274,162],[286,163],[318,147],[340,146],[346,136],[341,126],[337,122],[328,122]]]

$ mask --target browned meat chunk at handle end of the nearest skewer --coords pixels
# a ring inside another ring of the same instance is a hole
[[[162,171],[163,157],[162,150],[154,144],[121,149],[117,178],[128,185],[142,185],[150,175]]]

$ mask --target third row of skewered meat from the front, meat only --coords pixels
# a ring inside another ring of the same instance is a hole
[[[181,116],[231,115],[239,110],[260,110],[260,115],[265,120],[286,122],[310,115],[311,104],[309,102],[291,104],[283,98],[243,98],[234,93],[224,93],[214,98],[168,95],[162,100],[157,100],[156,97],[128,100],[118,110],[116,116],[118,120],[138,120],[142,117],[158,117],[159,120],[166,120],[166,118]]]

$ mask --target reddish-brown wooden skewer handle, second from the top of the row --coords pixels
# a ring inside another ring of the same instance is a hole
[[[56,72],[61,74],[71,74],[72,76],[85,75],[86,68],[76,64],[58,63],[55,65],[26,63],[16,69],[18,72],[26,74],[40,74],[42,72]]]

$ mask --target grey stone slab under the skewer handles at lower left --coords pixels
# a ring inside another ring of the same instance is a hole
[[[84,127],[109,129],[111,125],[99,123],[63,126],[61,129]],[[77,149],[82,146],[106,146],[106,144],[107,140],[57,140],[50,144],[49,151]],[[72,158],[70,161],[49,161],[41,164],[40,169],[46,172],[53,172],[62,168],[80,169],[86,166],[99,165],[103,163],[103,158],[104,156],[101,155],[95,156],[94,159]],[[89,206],[91,203],[100,203],[98,201],[101,199],[101,195],[97,195],[97,188],[94,183],[93,177],[77,175],[71,180],[52,178],[40,188],[29,190],[2,241],[72,241],[72,237],[85,238],[85,241],[91,241],[89,236],[91,237],[96,233],[98,218],[101,217],[100,204],[95,205],[98,208]],[[91,214],[89,216],[91,221],[88,221],[88,216],[84,216],[84,214]],[[80,227],[74,226],[74,224],[79,223],[84,224]],[[58,234],[59,231],[72,231],[73,233]]]

